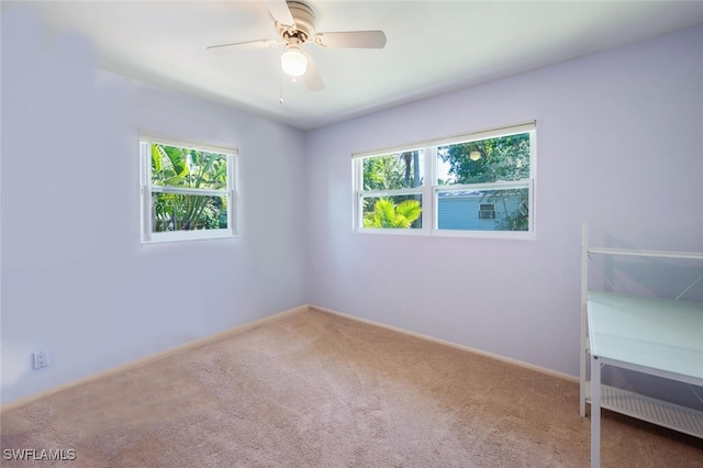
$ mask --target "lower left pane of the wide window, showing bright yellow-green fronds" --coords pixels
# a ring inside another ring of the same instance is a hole
[[[421,229],[422,196],[366,197],[364,227],[366,229]]]

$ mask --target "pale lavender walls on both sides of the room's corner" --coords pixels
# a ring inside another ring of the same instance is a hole
[[[3,11],[2,402],[305,302],[577,375],[583,221],[703,250],[703,27],[306,134],[46,43]],[[537,241],[353,233],[352,153],[533,119]],[[239,148],[241,238],[140,244],[140,130]]]

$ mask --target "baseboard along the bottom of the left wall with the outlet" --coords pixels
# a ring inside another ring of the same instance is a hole
[[[135,367],[140,367],[140,366],[143,366],[143,365],[148,364],[148,363],[154,363],[155,360],[164,359],[164,358],[172,356],[172,355],[175,355],[177,353],[182,353],[185,350],[199,348],[199,347],[208,345],[210,343],[219,342],[220,339],[224,339],[224,338],[227,338],[230,336],[234,336],[234,335],[237,335],[239,333],[246,332],[248,330],[253,330],[253,328],[256,328],[258,326],[266,325],[267,323],[276,322],[277,320],[280,320],[280,319],[283,319],[283,317],[287,317],[287,316],[290,316],[290,315],[294,315],[294,314],[297,314],[299,312],[303,312],[303,311],[306,311],[309,309],[310,308],[309,308],[308,304],[298,305],[297,308],[289,309],[289,310],[283,311],[283,312],[278,312],[278,313],[275,313],[272,315],[268,315],[268,316],[265,316],[263,319],[255,320],[254,322],[249,322],[249,323],[245,323],[245,324],[242,324],[242,325],[238,325],[238,326],[234,326],[234,327],[227,328],[227,330],[225,330],[223,332],[219,332],[219,333],[215,333],[213,335],[204,336],[202,338],[193,339],[191,342],[187,342],[187,343],[183,343],[181,345],[174,346],[172,348],[164,349],[161,352],[158,352],[158,353],[155,353],[155,354],[152,354],[152,355],[148,355],[148,356],[132,360],[130,363],[125,363],[125,364],[116,366],[116,367],[112,367],[110,369],[102,370],[102,371],[97,372],[97,374],[91,374],[90,376],[82,377],[82,378],[80,378],[78,380],[72,380],[70,382],[60,385],[58,387],[54,387],[54,388],[51,388],[48,390],[41,391],[38,393],[33,393],[31,395],[20,398],[18,400],[14,400],[14,401],[11,401],[9,403],[3,404],[2,408],[0,409],[0,414],[4,413],[5,411],[13,410],[13,409],[15,409],[18,406],[23,406],[23,405],[25,405],[27,403],[32,403],[32,402],[34,402],[36,400],[41,400],[43,398],[46,398],[46,397],[48,397],[51,394],[54,394],[54,393],[57,393],[59,391],[64,391],[64,390],[74,388],[74,387],[80,386],[82,383],[92,382],[94,380],[102,379],[102,378],[105,378],[105,377],[109,377],[109,376],[112,376],[112,375],[115,375],[115,374],[119,374],[119,372],[123,372],[125,370],[133,369]]]

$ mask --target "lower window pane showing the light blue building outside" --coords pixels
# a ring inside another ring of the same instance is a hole
[[[446,191],[437,193],[437,229],[527,231],[529,190]]]

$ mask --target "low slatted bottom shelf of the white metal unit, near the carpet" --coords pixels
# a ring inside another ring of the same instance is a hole
[[[590,403],[590,381],[585,389]],[[703,411],[610,386],[601,386],[601,408],[703,438]]]

